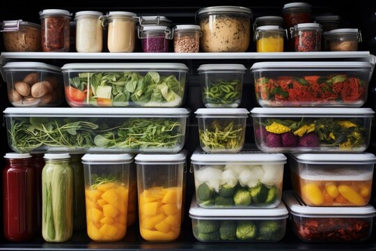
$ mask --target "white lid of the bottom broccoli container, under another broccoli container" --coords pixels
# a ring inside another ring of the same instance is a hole
[[[288,218],[288,210],[281,201],[279,206],[276,208],[202,208],[198,206],[196,202],[196,197],[194,196],[191,201],[191,206],[189,208],[189,217],[197,219],[197,218],[206,218],[210,217],[210,219],[214,220],[213,218],[272,218],[272,219],[285,219]],[[270,220],[272,220],[270,219]]]

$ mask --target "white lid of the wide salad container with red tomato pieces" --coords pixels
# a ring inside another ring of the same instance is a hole
[[[130,71],[130,70],[155,70],[155,71],[185,71],[188,72],[188,67],[184,63],[66,63],[61,71],[81,72],[81,71]]]

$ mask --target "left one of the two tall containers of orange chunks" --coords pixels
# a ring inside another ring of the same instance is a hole
[[[130,154],[85,154],[86,222],[93,241],[119,241],[127,232]]]

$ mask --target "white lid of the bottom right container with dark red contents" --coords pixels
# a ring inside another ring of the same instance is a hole
[[[376,214],[376,210],[371,205],[366,206],[307,206],[301,199],[292,191],[283,192],[283,201],[290,209],[292,215],[304,216],[304,217],[373,217]]]

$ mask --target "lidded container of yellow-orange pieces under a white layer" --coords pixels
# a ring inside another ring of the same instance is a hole
[[[292,188],[308,206],[366,206],[375,163],[372,153],[292,154]]]

